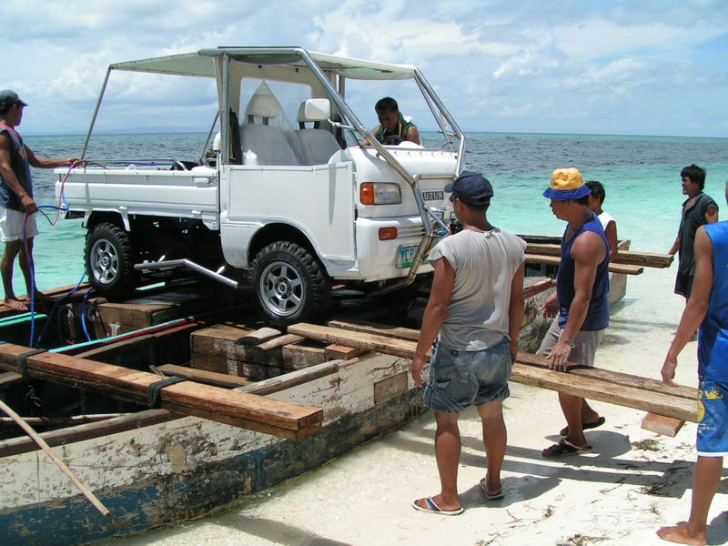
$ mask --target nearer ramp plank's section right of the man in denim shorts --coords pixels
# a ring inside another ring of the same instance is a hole
[[[698,420],[697,399],[682,399],[662,392],[634,387],[620,386],[619,389],[615,389],[610,381],[591,379],[571,372],[553,371],[516,362],[513,364],[511,381],[542,389],[558,390],[573,396],[609,402],[635,410],[652,411],[652,413],[667,417],[693,422]]]

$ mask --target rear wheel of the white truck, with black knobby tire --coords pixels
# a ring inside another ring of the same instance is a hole
[[[98,224],[86,235],[86,272],[104,296],[121,297],[136,288],[134,248],[129,234],[114,224]]]

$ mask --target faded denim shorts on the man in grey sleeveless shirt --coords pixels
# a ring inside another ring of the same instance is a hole
[[[484,350],[437,347],[425,385],[425,406],[440,413],[461,413],[469,406],[507,399],[513,367],[508,346],[504,338]]]

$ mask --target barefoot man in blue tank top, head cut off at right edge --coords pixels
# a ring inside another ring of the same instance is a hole
[[[674,386],[677,357],[700,327],[698,462],[690,519],[657,531],[665,541],[681,544],[706,543],[708,511],[723,474],[723,455],[728,455],[728,222],[698,227],[694,255],[693,292],[662,365],[662,381]]]

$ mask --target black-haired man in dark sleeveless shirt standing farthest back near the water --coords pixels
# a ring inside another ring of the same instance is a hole
[[[705,187],[705,169],[693,164],[684,167],[680,172],[682,194],[688,198],[682,203],[682,217],[677,238],[668,250],[668,254],[678,254],[677,278],[675,278],[675,294],[690,298],[695,274],[695,257],[693,245],[695,232],[705,224],[718,221],[718,205],[703,193]]]

